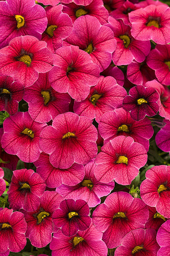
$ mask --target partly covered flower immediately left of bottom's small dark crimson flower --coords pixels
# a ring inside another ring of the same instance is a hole
[[[62,196],[55,191],[45,191],[40,198],[40,205],[34,212],[24,213],[27,222],[27,232],[25,236],[29,238],[31,244],[35,247],[45,247],[50,243],[53,232],[52,215],[58,208]]]

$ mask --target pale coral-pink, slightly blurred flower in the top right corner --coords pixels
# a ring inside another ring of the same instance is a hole
[[[157,44],[170,42],[170,8],[150,4],[129,13],[131,34],[137,40],[153,40]]]

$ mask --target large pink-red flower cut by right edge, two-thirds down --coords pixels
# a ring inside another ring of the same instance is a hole
[[[154,166],[146,172],[141,183],[141,198],[149,206],[155,206],[158,213],[170,218],[170,166]]]

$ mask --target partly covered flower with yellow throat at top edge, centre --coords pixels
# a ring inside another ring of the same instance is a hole
[[[103,25],[108,22],[109,13],[103,6],[102,0],[92,0],[92,2],[86,6],[69,3],[64,4],[62,12],[69,15],[74,23],[77,18],[82,15],[90,15],[96,17]]]

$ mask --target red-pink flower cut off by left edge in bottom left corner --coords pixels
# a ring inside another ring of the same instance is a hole
[[[24,214],[11,209],[0,210],[0,252],[20,252],[27,244]],[[8,255],[8,254],[7,254]]]

